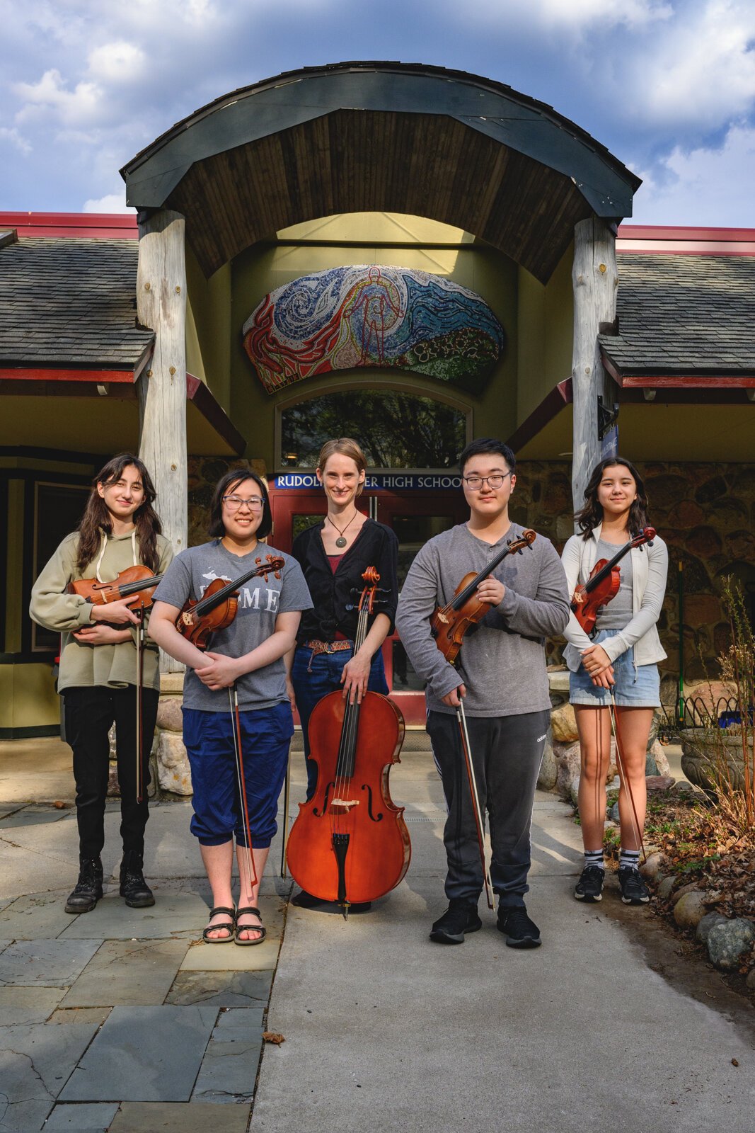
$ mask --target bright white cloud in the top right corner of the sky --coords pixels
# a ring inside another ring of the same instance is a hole
[[[707,0],[680,9],[668,34],[635,56],[635,111],[651,122],[711,129],[755,100],[755,5]]]

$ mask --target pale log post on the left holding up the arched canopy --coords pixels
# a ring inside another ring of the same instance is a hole
[[[187,546],[185,220],[162,210],[139,221],[137,317],[155,332],[139,378],[139,455],[157,491],[163,534],[178,554]],[[183,666],[161,650],[161,670]]]

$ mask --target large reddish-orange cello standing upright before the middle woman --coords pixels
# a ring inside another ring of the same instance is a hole
[[[354,653],[367,636],[380,576],[368,566],[362,579]],[[361,704],[328,692],[309,718],[317,787],[309,802],[299,803],[289,835],[289,870],[307,893],[337,902],[344,920],[351,904],[389,893],[409,869],[404,808],[388,791],[403,738],[401,712],[379,692],[366,692]]]

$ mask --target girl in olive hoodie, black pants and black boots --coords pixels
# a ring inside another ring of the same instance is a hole
[[[173,551],[163,538],[153,508],[155,489],[144,463],[128,452],[113,457],[95,476],[84,516],[66,536],[32,589],[35,622],[62,634],[58,688],[65,704],[66,739],[74,751],[79,877],[66,912],[94,909],[102,896],[104,813],[110,742],[115,724],[118,780],[121,790],[123,859],[120,893],[140,909],[155,898],[144,879],[144,830],[148,818],[146,786],[149,750],[160,697],[158,653],[145,647],[141,697],[141,798],[137,799],[137,645],[138,614],[125,598],[93,605],[68,593],[70,582],[112,581],[128,566],[141,564],[155,574],[168,568]]]

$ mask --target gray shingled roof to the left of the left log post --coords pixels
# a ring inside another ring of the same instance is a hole
[[[29,237],[0,247],[0,365],[132,370],[137,240]]]

